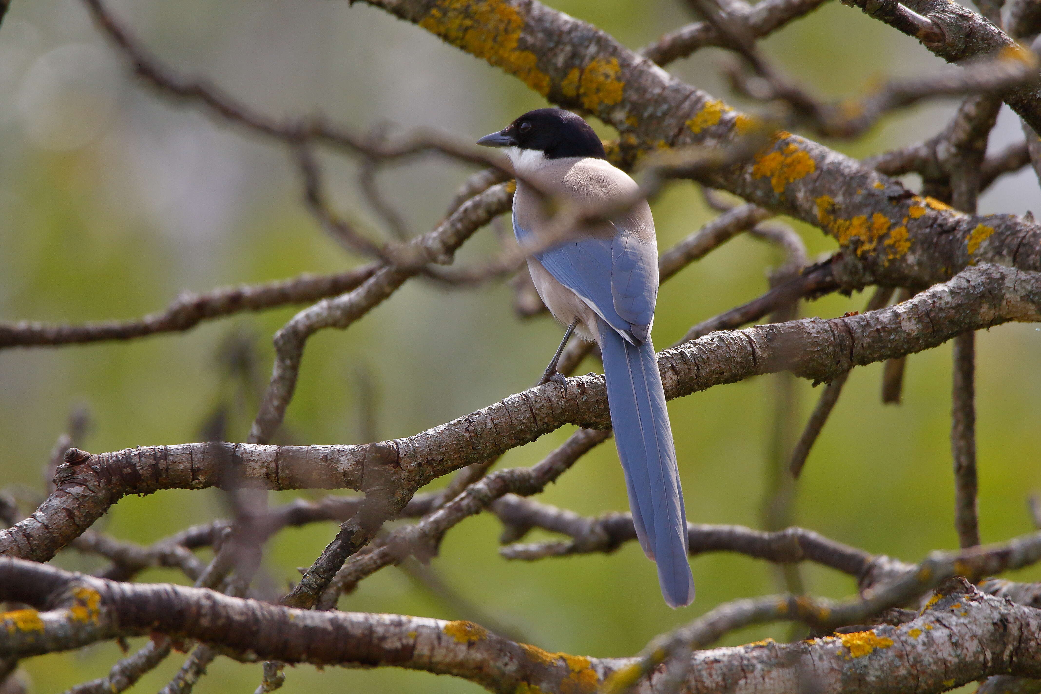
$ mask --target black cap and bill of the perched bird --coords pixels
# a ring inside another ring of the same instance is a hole
[[[547,159],[595,157],[606,159],[604,145],[589,124],[562,108],[528,111],[499,132],[477,140],[487,147],[518,147],[538,150]]]

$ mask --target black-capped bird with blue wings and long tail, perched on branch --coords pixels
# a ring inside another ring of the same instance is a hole
[[[544,243],[552,216],[548,200],[604,209],[637,199],[639,187],[606,158],[604,146],[580,117],[559,108],[525,113],[477,142],[502,147],[516,173],[513,232],[520,246]],[[651,325],[658,295],[658,249],[645,200],[609,222],[535,253],[528,268],[539,297],[567,326],[540,383],[564,382],[557,360],[573,332],[595,341],[604,357],[607,400],[629,507],[640,546],[658,564],[665,601],[694,599],[687,562],[687,522]]]

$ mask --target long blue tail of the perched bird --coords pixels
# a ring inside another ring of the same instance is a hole
[[[634,346],[599,323],[611,426],[636,535],[644,554],[658,564],[665,602],[671,608],[690,605],[694,577],[687,562],[687,514],[654,345],[648,337]]]

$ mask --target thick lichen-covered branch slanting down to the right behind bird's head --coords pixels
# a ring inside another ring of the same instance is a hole
[[[625,166],[661,145],[715,146],[755,126],[755,120],[668,75],[606,33],[531,0],[370,4],[503,68],[551,102],[591,112],[614,126],[620,139],[613,154]],[[1041,121],[1041,106],[1036,108]],[[780,133],[754,161],[707,178],[751,203],[824,229],[860,266],[860,284],[929,286],[970,262],[1041,269],[1041,229],[1034,224],[1011,215],[960,214],[788,133]]]

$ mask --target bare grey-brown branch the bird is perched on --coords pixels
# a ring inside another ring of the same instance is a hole
[[[1041,275],[980,265],[883,310],[712,333],[661,353],[659,365],[669,399],[784,369],[828,382],[853,366],[1009,320],[1041,320]],[[590,375],[568,379],[566,390],[531,388],[415,436],[365,445],[194,443],[95,456],[72,449],[55,492],[31,516],[0,531],[0,554],[46,561],[128,493],[220,486],[224,459],[246,486],[365,489],[407,502],[442,474],[565,423],[603,429],[609,422],[603,377]]]

